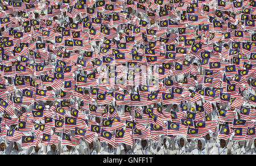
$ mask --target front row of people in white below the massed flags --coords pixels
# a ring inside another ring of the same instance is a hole
[[[184,136],[160,136],[159,140],[138,139],[133,146],[125,143],[113,147],[109,143],[100,143],[98,139],[91,143],[82,141],[79,146],[61,146],[60,143],[38,144],[23,149],[18,142],[10,143],[5,149],[1,141],[1,155],[255,155],[256,140],[249,142],[220,139],[214,141],[209,134],[200,139],[187,139]]]

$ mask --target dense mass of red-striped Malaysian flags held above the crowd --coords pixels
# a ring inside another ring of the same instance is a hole
[[[256,138],[255,9],[253,0],[1,1],[0,136],[22,147],[95,138],[133,145],[215,130],[222,139]],[[63,12],[81,17],[52,19]],[[174,103],[178,111],[164,110]]]

